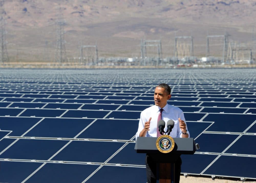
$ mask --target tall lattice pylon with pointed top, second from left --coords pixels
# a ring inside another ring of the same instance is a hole
[[[63,15],[61,12],[61,7],[59,7],[59,15],[56,20],[57,25],[57,40],[56,40],[56,54],[55,54],[55,61],[58,64],[67,62],[67,55],[66,55],[66,47],[65,47],[65,30],[64,26],[66,25],[66,21],[63,19]]]

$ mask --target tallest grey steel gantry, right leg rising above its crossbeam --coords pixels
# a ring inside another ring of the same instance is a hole
[[[211,35],[211,36],[207,35],[206,57],[210,56],[209,38],[223,37],[222,63],[225,63],[227,61],[228,36],[230,35],[226,31],[224,35]]]

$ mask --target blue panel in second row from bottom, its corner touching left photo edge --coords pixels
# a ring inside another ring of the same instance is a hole
[[[0,158],[48,160],[66,143],[67,140],[19,139]]]

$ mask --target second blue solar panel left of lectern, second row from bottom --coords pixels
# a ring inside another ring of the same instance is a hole
[[[124,142],[72,141],[52,160],[104,163]],[[104,149],[104,153],[103,150]],[[1,158],[1,156],[0,156]]]

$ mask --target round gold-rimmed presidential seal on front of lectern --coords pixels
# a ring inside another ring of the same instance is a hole
[[[161,135],[156,140],[156,148],[162,153],[171,152],[174,148],[174,140],[169,135]]]

